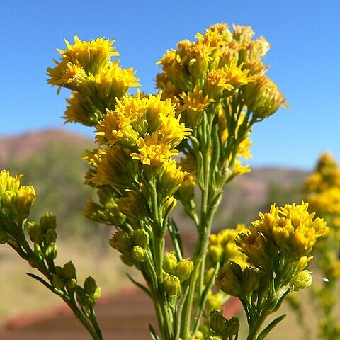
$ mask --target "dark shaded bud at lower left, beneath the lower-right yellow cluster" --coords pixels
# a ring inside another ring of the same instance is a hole
[[[234,261],[225,263],[215,276],[215,284],[228,295],[240,297],[242,290],[242,268]]]

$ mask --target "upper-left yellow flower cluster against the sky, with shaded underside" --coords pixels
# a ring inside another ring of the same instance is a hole
[[[114,108],[116,98],[125,95],[131,86],[139,86],[132,68],[122,69],[114,40],[98,38],[81,41],[77,35],[74,44],[65,40],[67,49],[58,50],[61,60],[47,69],[49,84],[74,91],[65,111],[66,122],[79,122],[94,126],[103,118],[106,108]]]

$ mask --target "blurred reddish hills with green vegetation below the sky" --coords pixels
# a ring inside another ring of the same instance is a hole
[[[94,224],[81,217],[81,211],[93,192],[82,185],[87,165],[81,156],[93,147],[89,138],[66,130],[0,137],[0,168],[25,174],[23,182],[35,186],[39,194],[37,216],[51,210],[62,228],[69,230],[72,225],[72,230],[86,234]],[[256,168],[239,176],[225,189],[215,228],[234,227],[237,222],[249,224],[272,203],[299,203],[306,176],[305,171],[280,167]],[[176,215],[183,222],[181,210]],[[190,228],[188,222],[183,225]]]

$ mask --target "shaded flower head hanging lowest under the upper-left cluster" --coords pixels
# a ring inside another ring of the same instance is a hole
[[[67,99],[67,103],[69,105],[62,117],[65,123],[94,126],[98,124],[99,120],[103,119],[103,114],[94,106],[88,96],[74,92],[71,94],[71,98]]]

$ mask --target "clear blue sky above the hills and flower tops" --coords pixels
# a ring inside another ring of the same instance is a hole
[[[63,128],[69,93],[57,96],[45,72],[64,38],[115,39],[123,67],[134,67],[142,90],[154,91],[163,53],[224,21],[249,24],[271,42],[268,75],[291,106],[254,127],[251,164],[312,169],[324,150],[340,161],[339,18],[339,0],[0,0],[0,135]]]

